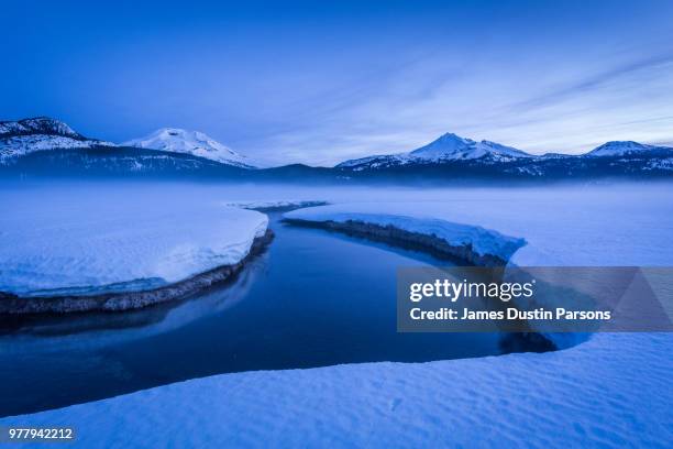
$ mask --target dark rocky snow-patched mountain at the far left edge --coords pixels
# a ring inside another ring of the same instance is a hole
[[[66,123],[48,117],[0,122],[0,164],[36,151],[95,146],[114,144],[87,139]]]

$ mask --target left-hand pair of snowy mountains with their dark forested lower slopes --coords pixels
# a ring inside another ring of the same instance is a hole
[[[179,130],[185,136],[180,144],[173,131],[162,131],[134,141],[135,147],[85,138],[48,117],[0,122],[0,175],[238,178],[252,168],[233,152],[223,162],[225,146],[205,134]],[[147,142],[158,149],[143,147]],[[212,158],[191,154],[200,152]]]

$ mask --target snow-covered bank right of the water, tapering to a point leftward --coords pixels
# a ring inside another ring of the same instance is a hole
[[[529,190],[487,198],[410,202],[336,204],[287,212],[309,221],[355,219],[470,242],[479,253],[507,255],[512,239],[527,244],[510,261],[519,266],[663,265],[672,262],[661,236],[673,237],[673,194],[639,190],[592,195],[592,189]],[[625,218],[628,217],[628,220]],[[636,231],[635,231],[636,230]],[[486,231],[486,233],[484,233]],[[495,232],[494,232],[495,231]],[[486,236],[487,239],[483,237]],[[499,240],[499,242],[498,242]],[[498,245],[499,243],[499,245]]]

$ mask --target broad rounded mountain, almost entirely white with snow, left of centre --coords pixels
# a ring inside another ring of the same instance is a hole
[[[123,145],[186,153],[227,165],[254,168],[254,164],[247,157],[199,131],[162,128],[147,136],[125,142]]]

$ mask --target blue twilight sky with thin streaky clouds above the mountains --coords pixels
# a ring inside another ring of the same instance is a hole
[[[19,3],[4,120],[114,142],[194,129],[269,164],[444,132],[532,153],[673,142],[671,1]]]

